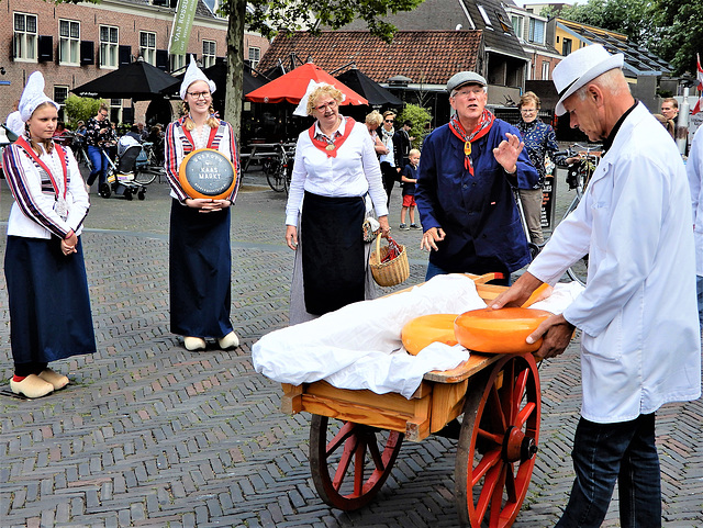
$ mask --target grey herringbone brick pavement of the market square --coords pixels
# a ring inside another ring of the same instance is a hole
[[[143,202],[91,195],[83,247],[98,352],[56,363],[71,379],[60,393],[0,396],[0,527],[457,526],[456,441],[443,438],[405,442],[365,509],[343,513],[319,498],[310,416],[281,414],[280,386],[250,363],[252,345],[287,324],[292,267],[284,196],[257,183],[265,184],[245,176],[234,209],[232,315],[242,347],[233,351],[188,352],[168,330],[167,186],[149,186]],[[2,186],[4,225],[11,198]],[[421,234],[397,231],[411,282],[420,282]],[[0,311],[0,385],[9,390],[4,281]],[[579,375],[576,345],[540,368],[540,451],[515,527],[554,526],[567,502]],[[666,526],[703,526],[702,437],[700,401],[658,413]],[[616,501],[604,526],[618,526]]]

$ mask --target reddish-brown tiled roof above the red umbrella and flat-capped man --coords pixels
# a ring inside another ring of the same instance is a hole
[[[476,69],[480,46],[480,31],[399,31],[391,44],[368,31],[297,32],[277,37],[257,69],[265,71],[295,53],[326,71],[354,61],[376,82],[402,75],[413,83],[445,85],[457,71]]]

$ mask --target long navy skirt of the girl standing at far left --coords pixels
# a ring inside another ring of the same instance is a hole
[[[66,257],[56,237],[8,237],[4,277],[15,363],[48,363],[96,351],[80,238],[76,249]]]

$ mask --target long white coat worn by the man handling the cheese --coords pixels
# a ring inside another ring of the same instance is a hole
[[[641,103],[528,271],[554,284],[585,252],[585,290],[563,312],[582,330],[581,415],[627,422],[698,398],[690,192],[676,144]]]

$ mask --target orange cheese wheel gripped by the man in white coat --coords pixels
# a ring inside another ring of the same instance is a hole
[[[550,315],[544,310],[522,307],[472,310],[456,318],[454,332],[464,347],[477,352],[534,352],[542,339],[532,345],[525,339]]]

